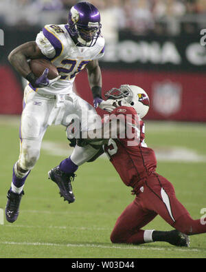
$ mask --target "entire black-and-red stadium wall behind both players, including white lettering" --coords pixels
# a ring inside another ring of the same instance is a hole
[[[12,49],[34,41],[40,28],[3,28],[0,47],[0,114],[21,114],[22,79],[8,63]],[[100,60],[103,92],[122,84],[142,87],[150,96],[150,120],[206,121],[206,47],[201,36],[135,36],[119,32],[106,44]],[[76,78],[76,90],[92,104],[87,72]],[[104,113],[98,109],[100,114]]]

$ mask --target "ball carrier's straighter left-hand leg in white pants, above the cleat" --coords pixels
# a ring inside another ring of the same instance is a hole
[[[40,156],[41,142],[52,107],[47,98],[39,96],[30,87],[25,88],[24,108],[19,129],[20,154],[19,160],[14,164],[12,180],[12,191],[16,193],[21,193],[21,185]]]

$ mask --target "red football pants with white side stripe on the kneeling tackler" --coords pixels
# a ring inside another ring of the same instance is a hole
[[[139,189],[135,200],[117,219],[111,242],[144,243],[144,231],[141,228],[158,214],[187,235],[206,233],[206,224],[201,224],[201,220],[193,220],[176,199],[173,185],[163,176],[152,174]]]

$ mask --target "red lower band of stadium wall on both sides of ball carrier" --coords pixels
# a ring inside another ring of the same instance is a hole
[[[21,114],[23,91],[10,66],[0,66],[0,114]],[[148,120],[206,122],[205,76],[190,72],[139,72],[102,69],[103,91],[122,84],[138,85],[150,97]],[[83,71],[76,77],[76,92],[93,102]],[[104,113],[101,110],[100,114]]]

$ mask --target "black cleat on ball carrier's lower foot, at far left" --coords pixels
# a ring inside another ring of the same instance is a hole
[[[23,195],[24,195],[23,191],[20,194],[14,193],[10,190],[8,191],[7,194],[8,202],[5,207],[5,218],[6,220],[8,220],[8,222],[13,223],[17,220],[19,216],[19,205]]]

